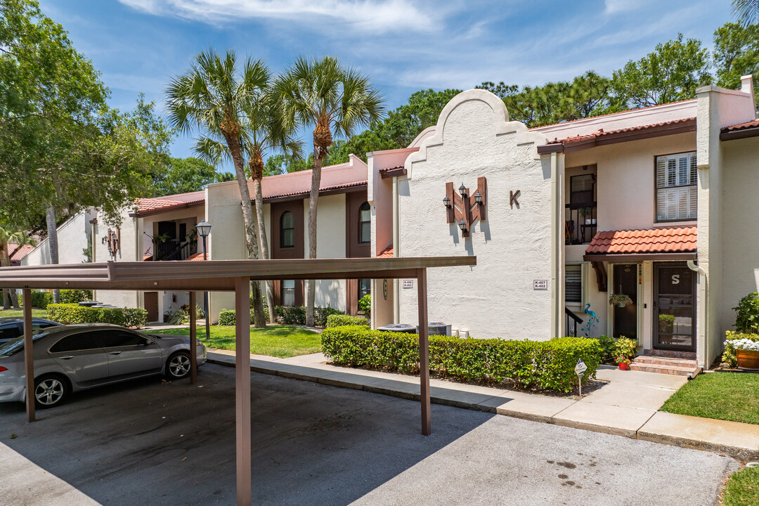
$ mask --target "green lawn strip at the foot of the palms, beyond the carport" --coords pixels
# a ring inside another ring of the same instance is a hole
[[[190,328],[169,328],[150,331],[151,334],[190,335]],[[235,349],[235,325],[212,325],[211,339],[206,341],[205,328],[197,328],[197,337],[203,344],[222,350]],[[322,350],[322,340],[317,332],[287,325],[270,325],[250,329],[250,353],[269,357],[295,357],[317,353]]]

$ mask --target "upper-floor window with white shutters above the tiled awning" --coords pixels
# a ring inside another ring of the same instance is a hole
[[[657,222],[696,219],[696,152],[657,156],[656,165]]]

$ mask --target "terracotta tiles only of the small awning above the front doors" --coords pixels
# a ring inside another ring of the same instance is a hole
[[[696,228],[673,227],[598,232],[585,254],[692,253],[695,250]]]

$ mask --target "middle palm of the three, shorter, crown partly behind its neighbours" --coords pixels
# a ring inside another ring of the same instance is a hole
[[[247,157],[250,178],[256,203],[258,239],[264,259],[269,259],[269,240],[266,238],[266,223],[263,215],[263,156],[269,150],[282,152],[289,159],[302,158],[301,142],[293,137],[294,126],[285,126],[282,114],[271,93],[263,90],[254,94],[244,111],[245,121],[241,125],[243,156]],[[207,162],[219,165],[222,159],[229,159],[229,149],[218,138],[201,137],[195,145],[195,152]],[[274,291],[272,282],[266,282],[266,302],[269,306],[269,323],[274,323]]]

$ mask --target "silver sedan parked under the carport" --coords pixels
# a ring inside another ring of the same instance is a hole
[[[190,339],[134,332],[118,325],[82,323],[33,335],[37,407],[61,404],[75,391],[127,379],[190,374]],[[25,401],[24,337],[0,345],[0,402]],[[197,364],[206,347],[197,341]]]

